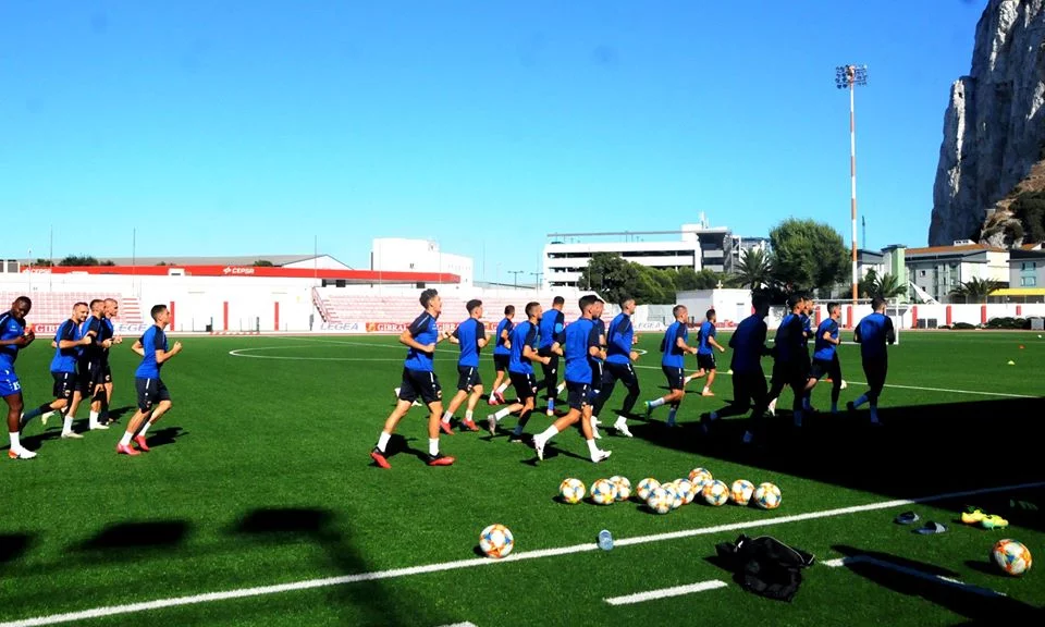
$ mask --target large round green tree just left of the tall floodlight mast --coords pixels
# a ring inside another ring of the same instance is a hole
[[[773,279],[792,292],[826,294],[846,274],[846,246],[828,224],[789,219],[770,232]]]

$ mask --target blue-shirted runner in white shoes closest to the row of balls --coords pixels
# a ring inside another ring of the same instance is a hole
[[[592,322],[597,296],[582,296],[579,302],[580,318],[566,327],[564,342],[555,342],[554,348],[562,348],[566,359],[566,390],[569,411],[552,423],[542,433],[533,437],[533,448],[537,458],[544,459],[544,446],[548,442],[567,427],[580,420],[580,430],[588,443],[588,453],[595,464],[610,457],[610,451],[600,451],[595,445],[591,432],[591,359],[605,358],[605,353],[599,346],[599,330]]]

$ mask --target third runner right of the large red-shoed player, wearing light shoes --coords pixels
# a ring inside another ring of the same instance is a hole
[[[508,442],[522,442],[522,430],[537,408],[537,379],[533,376],[533,361],[548,366],[552,358],[542,357],[538,352],[541,320],[541,304],[527,303],[526,320],[512,330],[512,354],[508,356],[508,379],[515,388],[518,401],[487,417],[487,428],[491,435],[497,432],[497,421],[509,414],[518,414],[519,421],[512,431]]]

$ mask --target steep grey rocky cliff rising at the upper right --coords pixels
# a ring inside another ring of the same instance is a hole
[[[972,72],[950,88],[930,245],[975,236],[989,214],[1004,211],[996,204],[1045,159],[1043,104],[1045,0],[989,0]]]

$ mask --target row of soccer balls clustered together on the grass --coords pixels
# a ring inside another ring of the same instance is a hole
[[[579,479],[565,479],[558,485],[558,494],[564,503],[579,503],[585,497],[585,484]],[[773,483],[762,483],[758,488],[746,479],[737,479],[733,485],[717,481],[704,468],[694,468],[688,479],[676,479],[661,483],[652,477],[639,481],[635,496],[657,514],[667,514],[683,505],[692,503],[701,495],[705,503],[713,506],[725,505],[732,501],[737,505],[747,505],[754,499],[755,505],[763,509],[776,509],[780,506],[780,489]],[[631,482],[627,477],[598,479],[591,484],[591,501],[598,505],[610,505],[631,497]]]

